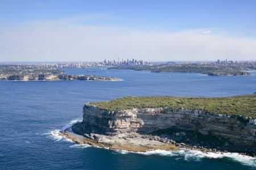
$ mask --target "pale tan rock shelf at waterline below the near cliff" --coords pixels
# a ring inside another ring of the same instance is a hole
[[[79,135],[68,129],[61,131],[60,135],[71,139],[73,142],[76,142],[79,145],[87,144],[95,147],[109,148],[112,150],[125,150],[131,152],[146,152],[151,150],[184,150],[184,148],[188,150],[220,154],[229,152],[228,150],[218,150],[216,148],[210,147],[186,145],[185,143],[175,142],[172,139],[162,138],[157,135],[130,134],[125,137],[108,136],[94,133]],[[249,155],[256,158],[255,154],[248,154],[246,152],[240,152],[239,154]]]

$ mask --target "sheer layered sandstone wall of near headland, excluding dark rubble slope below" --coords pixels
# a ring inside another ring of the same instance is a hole
[[[75,132],[122,136],[135,132],[148,134],[168,128],[192,130],[225,139],[231,150],[256,151],[255,120],[193,109],[146,108],[110,112],[85,105],[83,121],[76,125]]]

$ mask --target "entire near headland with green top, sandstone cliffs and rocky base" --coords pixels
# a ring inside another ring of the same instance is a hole
[[[256,154],[256,95],[122,97],[84,105],[82,122],[64,130],[77,143],[117,150]]]

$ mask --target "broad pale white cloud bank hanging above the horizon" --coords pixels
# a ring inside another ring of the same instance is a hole
[[[211,30],[205,29],[150,32],[81,25],[68,19],[68,22],[51,20],[2,29],[0,39],[0,61],[98,61],[118,57],[150,61],[256,58],[255,39],[212,34]]]

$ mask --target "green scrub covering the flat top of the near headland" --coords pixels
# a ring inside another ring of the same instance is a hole
[[[237,114],[256,118],[256,94],[233,97],[127,96],[90,103],[98,108],[118,111],[133,108],[186,108],[205,112]]]

